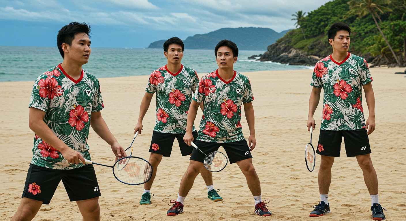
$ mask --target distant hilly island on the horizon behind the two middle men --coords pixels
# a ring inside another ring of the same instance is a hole
[[[207,34],[195,34],[183,41],[185,49],[214,49],[223,39],[233,41],[240,50],[266,51],[268,45],[283,37],[289,30],[276,32],[270,28],[220,28]],[[162,48],[165,40],[155,41],[148,48]]]

